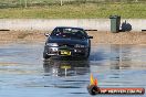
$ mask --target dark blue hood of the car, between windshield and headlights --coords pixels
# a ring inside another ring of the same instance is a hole
[[[58,43],[58,44],[82,44],[86,45],[86,40],[75,40],[75,39],[52,39],[50,37],[49,43]]]

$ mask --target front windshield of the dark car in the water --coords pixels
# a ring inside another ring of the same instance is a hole
[[[51,33],[51,37],[60,37],[60,39],[85,39],[86,33],[82,29],[74,28],[56,28]]]

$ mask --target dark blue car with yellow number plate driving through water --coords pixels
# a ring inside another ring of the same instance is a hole
[[[45,34],[43,58],[51,56],[73,56],[87,58],[91,52],[91,40],[81,28],[58,26],[51,34]]]

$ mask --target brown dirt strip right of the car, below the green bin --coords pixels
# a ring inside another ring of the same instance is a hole
[[[146,32],[88,32],[92,44],[146,44]]]

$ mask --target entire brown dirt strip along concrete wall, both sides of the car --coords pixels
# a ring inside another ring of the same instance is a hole
[[[0,43],[11,42],[44,42],[46,31],[0,31]],[[96,44],[146,44],[146,32],[100,32],[88,31],[92,45]]]

